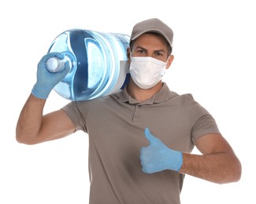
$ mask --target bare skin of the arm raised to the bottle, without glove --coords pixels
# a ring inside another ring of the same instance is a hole
[[[43,115],[46,100],[31,94],[24,104],[17,122],[16,138],[24,144],[38,144],[56,140],[75,132],[69,117],[64,111],[54,111]]]

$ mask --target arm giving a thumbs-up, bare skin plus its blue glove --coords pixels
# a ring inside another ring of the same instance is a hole
[[[150,145],[140,150],[144,173],[170,169],[217,184],[235,182],[241,177],[239,159],[221,134],[211,133],[196,140],[195,145],[202,155],[175,151],[154,137],[147,128],[145,137]]]

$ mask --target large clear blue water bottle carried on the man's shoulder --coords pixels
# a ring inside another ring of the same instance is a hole
[[[66,61],[71,69],[54,90],[69,100],[91,100],[124,89],[129,79],[126,54],[129,39],[128,35],[81,29],[58,35],[48,53],[63,53],[65,59],[62,62],[50,59],[49,69],[60,70]]]

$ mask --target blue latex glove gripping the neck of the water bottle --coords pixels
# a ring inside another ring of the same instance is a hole
[[[54,89],[54,86],[61,82],[65,75],[69,73],[70,67],[69,63],[65,63],[65,68],[59,72],[50,72],[46,68],[46,60],[50,57],[57,57],[58,59],[64,59],[64,55],[62,53],[48,53],[39,61],[37,66],[37,82],[32,89],[32,94],[35,97],[46,99],[51,90]]]

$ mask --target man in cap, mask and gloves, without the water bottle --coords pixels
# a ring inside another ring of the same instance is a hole
[[[43,56],[17,122],[17,140],[38,144],[83,130],[89,136],[90,203],[180,203],[184,175],[217,184],[239,180],[241,165],[217,124],[191,94],[161,78],[173,62],[173,31],[150,19],[132,30],[131,80],[121,92],[72,101],[43,115],[51,89],[69,71],[50,74]],[[192,155],[196,146],[202,155]]]

